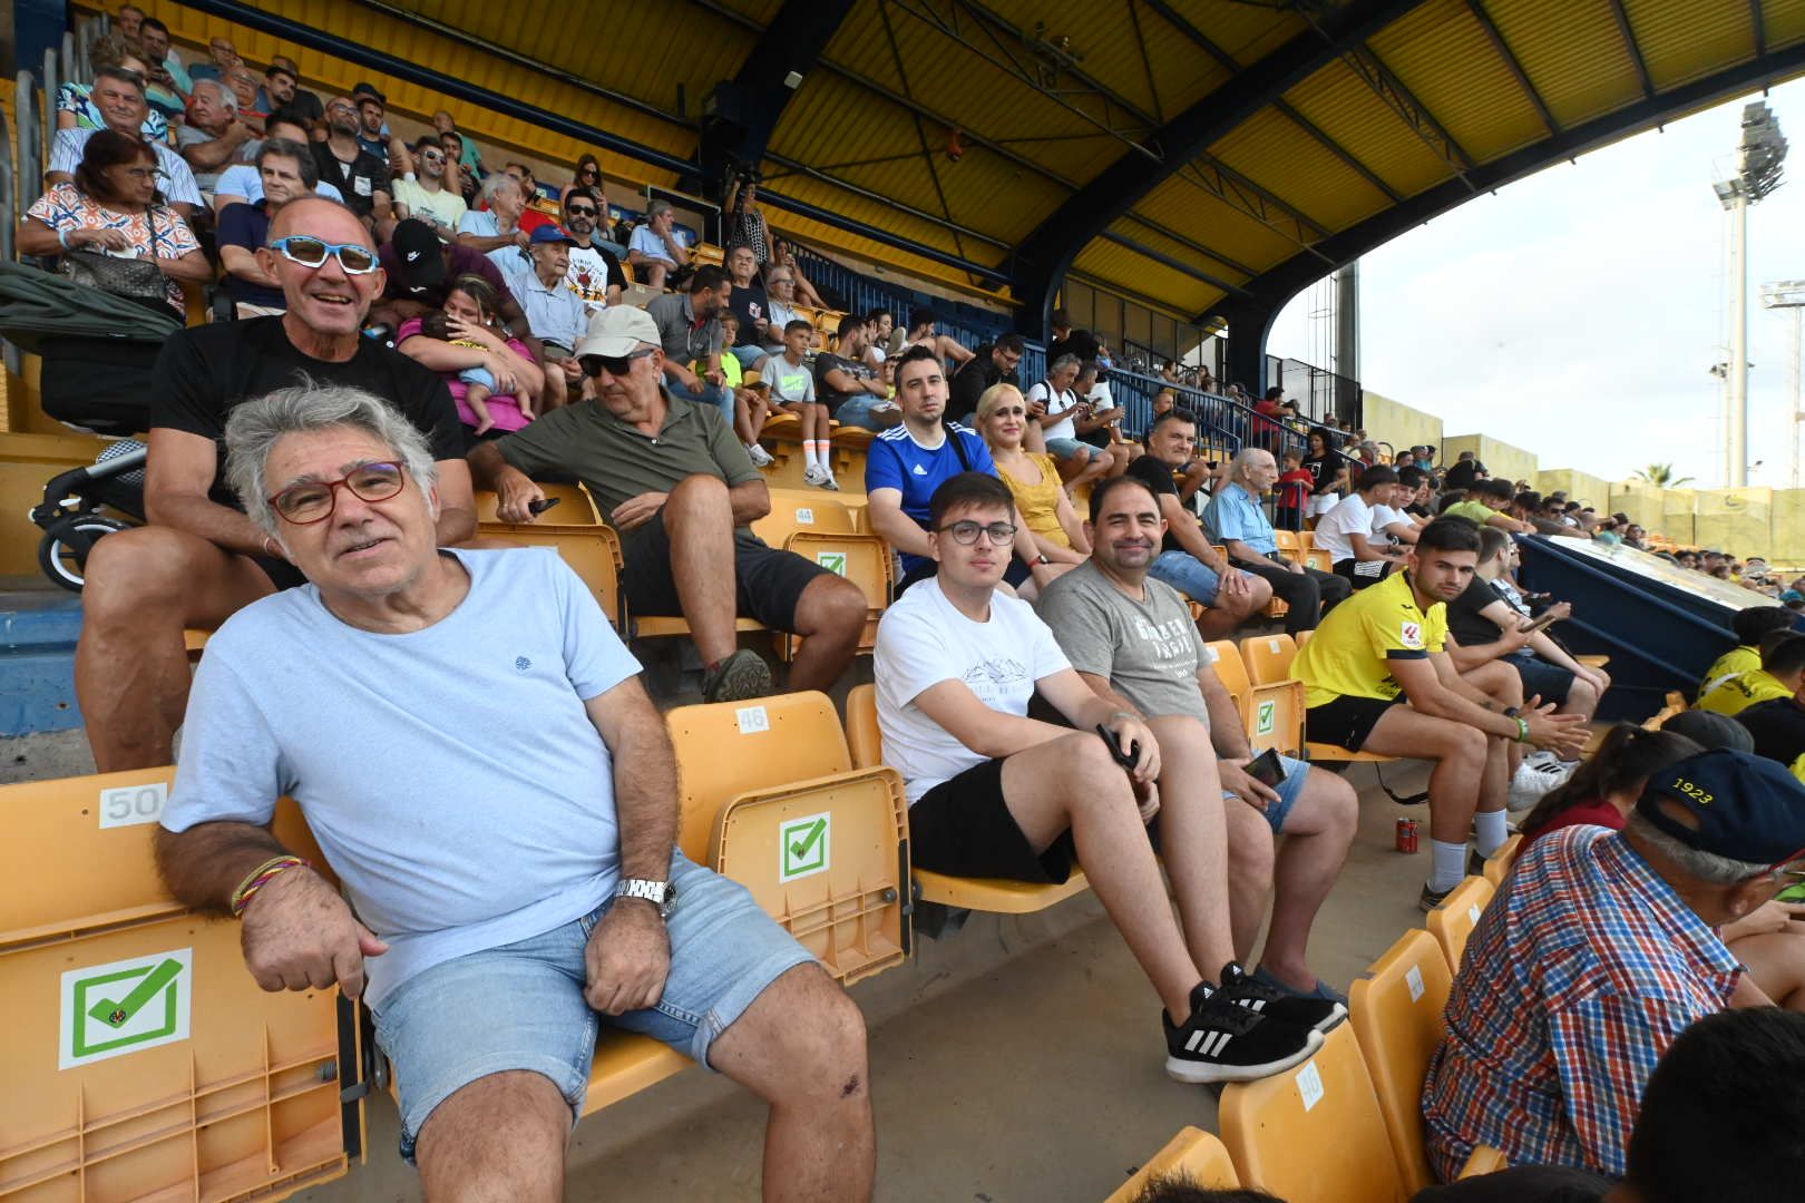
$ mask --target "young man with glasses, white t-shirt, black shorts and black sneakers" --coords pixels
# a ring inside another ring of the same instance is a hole
[[[877,723],[884,763],[902,774],[908,794],[913,864],[1061,884],[1074,859],[1083,862],[1164,1005],[1166,1073],[1233,1082],[1298,1064],[1345,1010],[1256,992],[1236,965],[1200,969],[1199,960],[1224,949],[1204,949],[1202,932],[1173,922],[1146,824],[1161,815],[1180,907],[1206,887],[1220,896],[1220,862],[1209,869],[1208,857],[1189,855],[1222,840],[1220,790],[1189,792],[1161,810],[1153,730],[1094,693],[1034,610],[998,592],[1014,514],[1007,485],[986,473],[960,473],[935,489],[926,537],[939,574],[897,599],[877,626]],[[1180,615],[1179,635],[1191,638],[1189,615]],[[1029,718],[1036,693],[1072,727]],[[1213,758],[1193,767],[1215,777]],[[1189,877],[1209,871],[1211,882]],[[1199,927],[1204,916],[1189,918]],[[1226,927],[1226,916],[1215,918]]]

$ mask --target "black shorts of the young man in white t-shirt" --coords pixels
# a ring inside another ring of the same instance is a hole
[[[1004,763],[973,765],[908,808],[910,862],[951,877],[1005,877],[1063,886],[1078,855],[1072,833],[1036,855],[1004,803]]]

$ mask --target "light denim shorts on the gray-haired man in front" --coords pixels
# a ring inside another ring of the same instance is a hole
[[[588,934],[608,902],[574,923],[518,943],[471,952],[408,978],[375,1012],[375,1039],[401,1088],[401,1156],[433,1109],[480,1077],[543,1073],[583,1111],[597,1024],[650,1035],[700,1066],[765,987],[814,956],[765,914],[751,893],[671,855],[677,905],[670,914],[671,969],[648,1010],[603,1015],[583,997]]]

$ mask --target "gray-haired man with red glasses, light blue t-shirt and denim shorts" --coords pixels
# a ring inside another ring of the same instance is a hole
[[[226,442],[309,584],[213,637],[157,866],[265,990],[365,999],[426,1198],[563,1198],[597,1012],[769,1102],[778,1192],[870,1198],[859,1008],[677,849],[664,720],[578,575],[440,550],[433,453],[363,390],[249,400]],[[343,893],[271,833],[283,794]]]

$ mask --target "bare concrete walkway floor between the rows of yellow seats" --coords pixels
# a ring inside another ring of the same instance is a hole
[[[1386,781],[1415,792],[1424,774],[1408,765]],[[1393,821],[1426,810],[1395,806],[1370,767],[1350,779],[1361,831],[1312,938],[1318,974],[1343,990],[1422,923],[1428,873],[1428,840],[1393,851]],[[1164,1075],[1159,1003],[1090,895],[1036,916],[973,916],[852,994],[870,1026],[883,1201],[1103,1199],[1179,1127],[1215,1129],[1215,1097]],[[377,1098],[368,1165],[298,1198],[419,1198],[395,1138],[393,1104]],[[758,1199],[762,1138],[756,1100],[686,1071],[578,1125],[567,1198]]]

